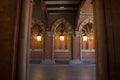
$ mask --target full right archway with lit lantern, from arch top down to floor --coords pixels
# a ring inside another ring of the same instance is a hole
[[[93,17],[85,19],[79,28],[81,60],[83,63],[96,63],[95,60],[95,33]]]

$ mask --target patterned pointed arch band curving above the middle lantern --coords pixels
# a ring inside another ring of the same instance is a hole
[[[52,27],[51,27],[51,31],[52,31],[52,32],[55,32],[56,29],[57,29],[57,27],[58,27],[62,22],[64,23],[65,26],[67,26],[67,28],[68,28],[69,31],[72,31],[72,26],[71,26],[71,24],[70,24],[66,19],[64,19],[64,18],[60,18],[60,19],[56,20],[56,21],[53,23]]]

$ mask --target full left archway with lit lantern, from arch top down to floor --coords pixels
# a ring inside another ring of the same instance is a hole
[[[30,63],[40,63],[44,54],[45,25],[39,19],[32,20],[30,35]]]

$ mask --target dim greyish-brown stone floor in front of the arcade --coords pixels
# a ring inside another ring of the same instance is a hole
[[[29,80],[96,80],[95,64],[30,64]]]

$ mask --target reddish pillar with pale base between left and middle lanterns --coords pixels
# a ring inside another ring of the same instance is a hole
[[[44,38],[44,55],[42,64],[55,64],[54,61],[54,37],[53,33],[46,31]]]

